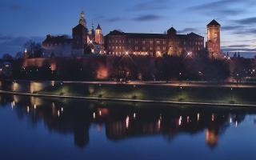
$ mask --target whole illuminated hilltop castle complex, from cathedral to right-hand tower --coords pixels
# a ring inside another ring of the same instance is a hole
[[[174,27],[166,34],[125,33],[118,30],[110,31],[104,38],[102,28],[98,24],[90,30],[86,26],[84,12],[81,13],[78,26],[72,30],[72,38],[68,36],[47,35],[42,42],[44,57],[79,57],[83,54],[134,54],[150,57],[168,55],[196,55],[208,53],[209,58],[222,58],[221,54],[221,25],[213,20],[207,25],[207,42],[204,37],[193,32],[178,34]],[[206,49],[206,50],[205,50]]]

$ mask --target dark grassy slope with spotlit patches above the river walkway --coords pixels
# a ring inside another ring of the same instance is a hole
[[[150,99],[180,102],[255,104],[255,89],[226,87],[171,87],[132,85],[63,84],[47,87],[38,94],[72,95],[94,98]]]

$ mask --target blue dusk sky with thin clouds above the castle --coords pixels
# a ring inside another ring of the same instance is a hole
[[[222,25],[222,50],[256,54],[256,0],[1,0],[0,56],[15,55],[32,39],[67,34],[78,24],[81,11],[87,27],[134,33],[164,33],[171,26],[179,34],[206,37],[206,25]]]

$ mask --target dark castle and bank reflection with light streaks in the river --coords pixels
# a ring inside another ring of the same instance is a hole
[[[89,102],[84,100],[0,96],[1,107],[11,107],[18,118],[29,118],[32,126],[43,121],[59,134],[74,134],[74,144],[85,148],[90,142],[90,126],[106,131],[106,138],[118,142],[126,138],[158,135],[172,141],[179,134],[206,133],[206,144],[214,149],[230,126],[239,126],[253,109],[168,106],[147,103]]]

